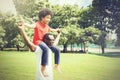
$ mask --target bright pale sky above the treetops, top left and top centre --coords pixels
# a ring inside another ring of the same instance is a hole
[[[92,0],[49,0],[52,4],[77,4],[80,7],[86,7],[92,4]],[[13,14],[17,14],[14,3],[12,0],[0,0],[0,11],[2,12],[12,12]]]

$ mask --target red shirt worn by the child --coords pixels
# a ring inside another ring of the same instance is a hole
[[[33,43],[35,45],[39,45],[43,41],[44,35],[49,32],[50,27],[48,25],[45,25],[44,23],[37,21],[36,27],[34,28]]]

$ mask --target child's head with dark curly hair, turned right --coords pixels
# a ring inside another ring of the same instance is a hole
[[[52,16],[53,16],[53,13],[49,9],[41,10],[38,15],[39,19],[45,24],[49,24]]]

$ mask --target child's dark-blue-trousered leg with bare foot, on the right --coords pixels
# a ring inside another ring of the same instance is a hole
[[[52,47],[50,47],[50,49],[55,53],[55,57],[54,57],[54,59],[55,59],[55,69],[57,71],[61,72],[60,68],[59,68],[59,63],[60,63],[60,49],[58,47],[54,46],[54,45]]]

